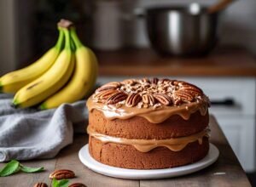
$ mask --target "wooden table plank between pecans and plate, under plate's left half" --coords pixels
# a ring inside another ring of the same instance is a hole
[[[75,134],[74,143],[61,150],[56,161],[56,169],[65,168],[73,170],[77,178],[71,180],[72,183],[80,182],[87,186],[120,186],[137,187],[138,180],[124,180],[119,178],[110,178],[102,174],[94,173],[85,167],[79,160],[79,150],[88,142],[88,136],[85,134]]]

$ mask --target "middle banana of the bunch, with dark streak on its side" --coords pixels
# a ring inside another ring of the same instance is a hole
[[[43,76],[21,88],[13,100],[15,107],[26,108],[41,103],[55,94],[71,77],[74,67],[74,55],[70,46],[70,33],[62,28],[65,35],[65,48],[55,60],[54,65]]]

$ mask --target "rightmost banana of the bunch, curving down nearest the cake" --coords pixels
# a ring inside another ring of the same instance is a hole
[[[71,28],[71,37],[76,48],[73,77],[65,88],[62,88],[61,91],[49,97],[40,105],[42,110],[55,108],[62,103],[73,103],[90,94],[92,88],[94,88],[98,71],[96,55],[79,41],[74,28]]]

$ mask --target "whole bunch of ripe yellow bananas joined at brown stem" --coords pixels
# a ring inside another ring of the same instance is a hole
[[[54,48],[34,64],[0,78],[1,91],[15,93],[15,107],[41,104],[41,109],[50,109],[83,99],[92,92],[98,71],[96,56],[79,41],[70,21],[60,23]],[[61,48],[63,37],[65,46]]]

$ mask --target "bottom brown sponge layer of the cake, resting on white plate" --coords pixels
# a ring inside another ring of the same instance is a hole
[[[201,160],[209,150],[208,138],[202,144],[198,141],[188,144],[183,150],[172,151],[166,147],[158,147],[146,153],[136,150],[127,144],[104,144],[90,137],[90,156],[113,167],[131,169],[159,169],[178,167]]]

